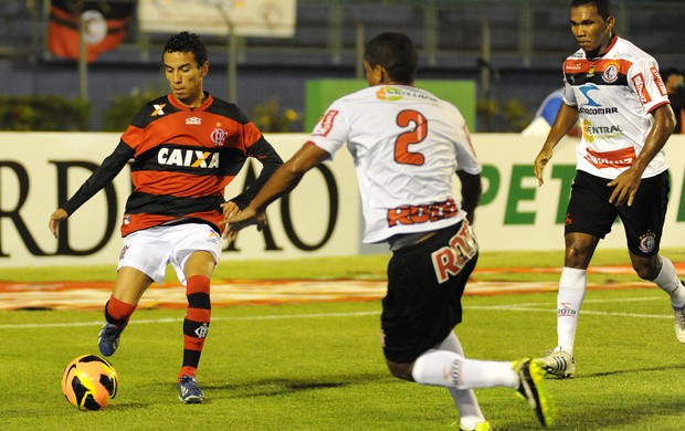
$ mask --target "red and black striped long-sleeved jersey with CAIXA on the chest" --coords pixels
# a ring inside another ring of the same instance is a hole
[[[236,105],[205,93],[204,103],[191,109],[167,95],[138,112],[114,153],[62,208],[73,213],[133,158],[134,191],[126,202],[122,235],[189,221],[221,232],[224,188],[247,157],[263,167],[256,180],[231,199],[240,208],[283,160]]]

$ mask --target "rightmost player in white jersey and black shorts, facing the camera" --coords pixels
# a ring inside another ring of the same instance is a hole
[[[616,217],[633,269],[670,295],[676,337],[685,343],[685,288],[673,263],[658,254],[670,188],[663,147],[675,117],[656,61],[616,36],[614,22],[609,0],[572,1],[571,32],[580,50],[563,62],[565,103],[535,159],[541,186],[555,146],[580,118],[557,296],[558,343],[540,358],[559,377],[576,372],[573,343],[586,271]]]

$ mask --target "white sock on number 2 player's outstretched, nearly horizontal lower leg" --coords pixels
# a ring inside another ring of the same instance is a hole
[[[429,350],[414,362],[412,376],[421,385],[475,389],[505,386],[518,388],[512,362],[466,359],[446,350]]]

